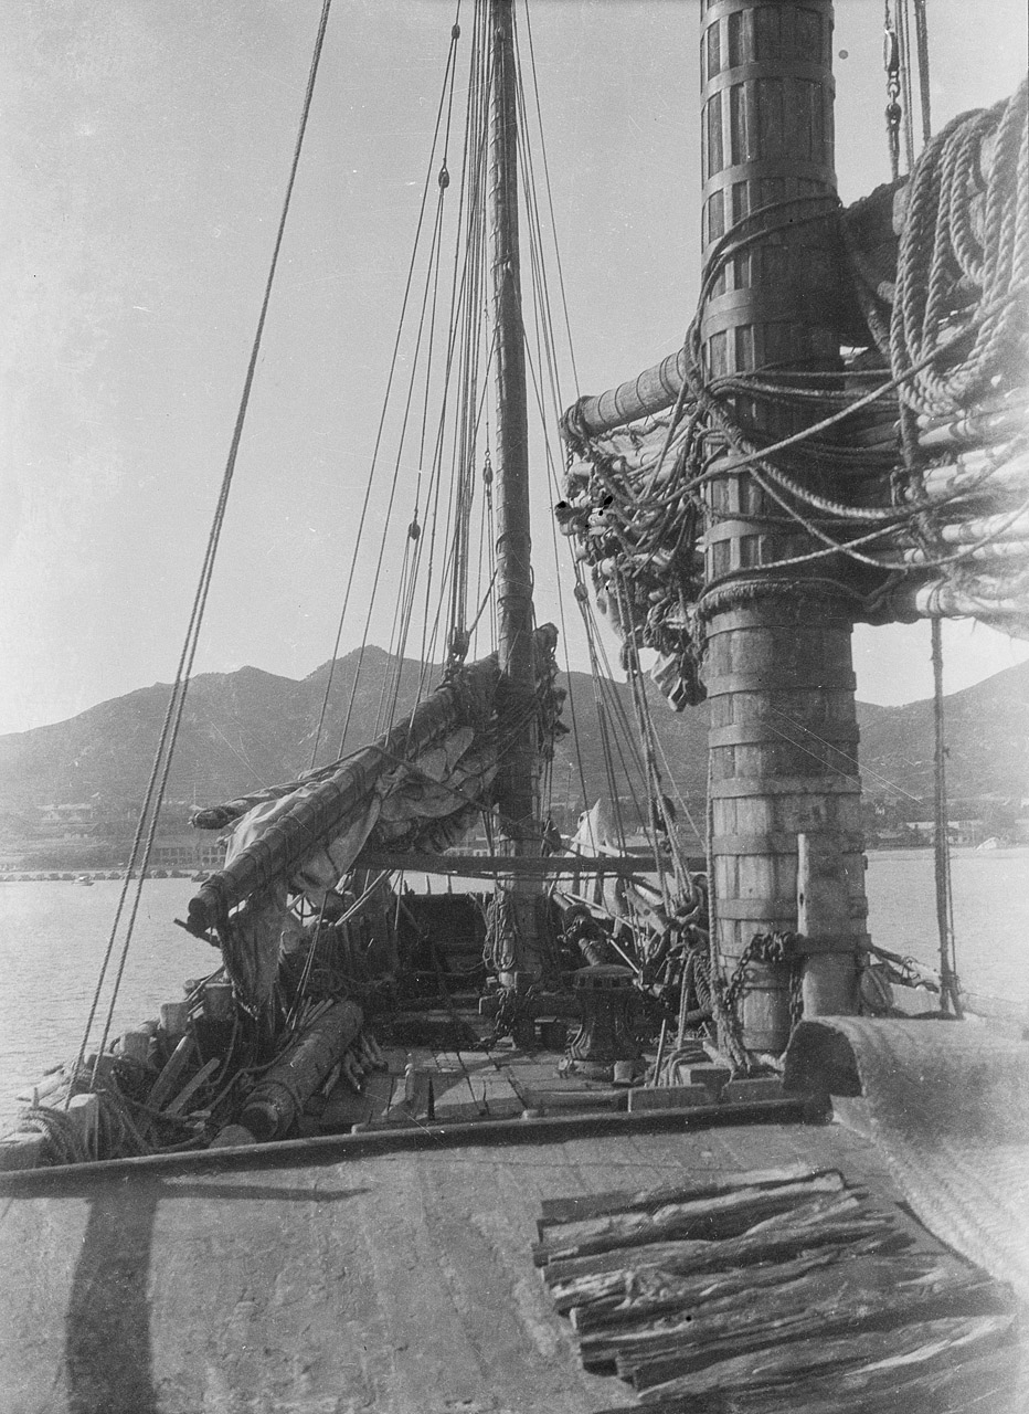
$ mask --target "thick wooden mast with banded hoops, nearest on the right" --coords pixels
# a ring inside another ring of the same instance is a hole
[[[796,208],[792,223],[769,222],[775,229],[765,233],[745,228],[748,240],[714,280],[701,322],[708,382],[766,365],[838,362],[831,233],[825,222],[803,219],[810,198],[835,195],[831,51],[830,0],[707,0],[705,270],[749,212],[776,202]],[[738,399],[736,414],[772,440],[796,430],[776,407]],[[851,612],[797,568],[769,570],[755,597],[753,578],[734,575],[803,554],[807,539],[783,529],[773,519],[780,508],[729,465],[711,478],[705,499],[705,578],[718,585],[704,662],[718,950],[732,973],[756,933],[796,930],[797,834],[833,831],[844,841],[835,870],[848,895],[847,986],[835,1010],[854,1011],[866,906]],[[743,1045],[780,1051],[790,1028],[784,967],[751,964],[741,1011]]]

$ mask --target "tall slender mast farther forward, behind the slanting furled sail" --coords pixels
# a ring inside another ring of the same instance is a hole
[[[490,204],[493,280],[493,361],[496,372],[496,598],[500,696],[522,725],[498,773],[498,803],[507,848],[516,858],[539,858],[543,830],[539,803],[539,728],[533,701],[533,578],[529,522],[529,413],[526,399],[522,270],[517,216],[517,74],[513,0],[490,0]],[[539,885],[523,875],[503,885],[513,913],[510,974],[539,976]]]

